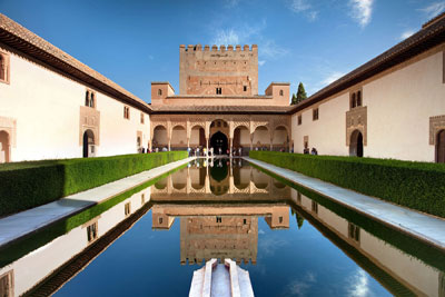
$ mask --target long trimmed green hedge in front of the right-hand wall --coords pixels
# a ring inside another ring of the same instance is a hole
[[[445,217],[445,166],[392,159],[250,151],[250,158]]]

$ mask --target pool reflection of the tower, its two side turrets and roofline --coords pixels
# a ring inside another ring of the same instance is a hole
[[[152,228],[169,229],[180,217],[180,261],[201,264],[211,258],[256,264],[258,217],[270,229],[289,227],[289,207],[263,205],[155,205]]]

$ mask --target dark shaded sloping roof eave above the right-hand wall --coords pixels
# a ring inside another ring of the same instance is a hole
[[[298,112],[314,103],[317,103],[333,95],[336,95],[360,81],[364,81],[379,72],[402,63],[445,41],[445,18],[426,26],[417,33],[394,46],[384,53],[364,63],[346,76],[339,78],[306,100],[296,105],[291,113]],[[429,22],[428,22],[429,23]]]

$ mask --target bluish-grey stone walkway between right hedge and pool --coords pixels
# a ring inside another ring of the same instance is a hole
[[[441,249],[445,249],[445,219],[396,206],[264,161],[248,157],[245,159],[289,181],[328,197],[359,214],[370,216],[375,220],[407,232]]]

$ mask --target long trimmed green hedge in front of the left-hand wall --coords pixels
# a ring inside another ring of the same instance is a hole
[[[26,161],[0,166],[0,216],[187,158],[187,151]]]

